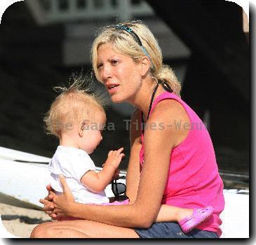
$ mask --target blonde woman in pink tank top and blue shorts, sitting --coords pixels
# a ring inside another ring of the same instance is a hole
[[[126,179],[130,204],[78,204],[65,179],[60,179],[63,195],[50,192],[41,200],[44,210],[55,219],[71,216],[81,220],[43,223],[32,237],[220,237],[223,183],[210,135],[180,98],[180,83],[162,63],[161,49],[151,31],[142,22],[102,28],[93,43],[92,62],[95,76],[112,102],[136,107]],[[137,129],[137,122],[144,122],[144,127]],[[175,210],[196,207],[201,211],[208,206],[213,207],[213,215],[191,232],[182,232],[180,225],[195,222],[196,212],[180,223],[168,222],[168,214]],[[164,211],[159,213],[160,209]],[[161,222],[155,223],[156,217]]]

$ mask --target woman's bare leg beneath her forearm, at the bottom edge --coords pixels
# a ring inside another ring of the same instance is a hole
[[[74,232],[73,232],[74,231]],[[121,228],[95,221],[53,221],[42,223],[33,231],[32,237],[90,237],[90,238],[139,238],[137,233],[130,228]]]

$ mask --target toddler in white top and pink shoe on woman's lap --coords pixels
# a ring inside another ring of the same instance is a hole
[[[49,164],[50,186],[55,193],[62,193],[59,175],[65,176],[76,202],[84,204],[119,205],[131,204],[109,202],[105,188],[119,173],[118,167],[123,158],[123,148],[109,151],[107,160],[100,172],[89,154],[102,140],[101,130],[105,126],[106,115],[100,101],[82,90],[83,83],[75,81],[67,89],[62,89],[44,118],[46,129],[60,140]],[[175,221],[184,232],[196,228],[213,214],[212,207],[202,209],[181,209],[161,205],[156,222]]]

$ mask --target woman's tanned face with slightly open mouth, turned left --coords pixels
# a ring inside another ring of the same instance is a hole
[[[112,102],[131,102],[142,85],[140,63],[127,55],[116,52],[111,44],[105,43],[97,49],[97,71]]]

